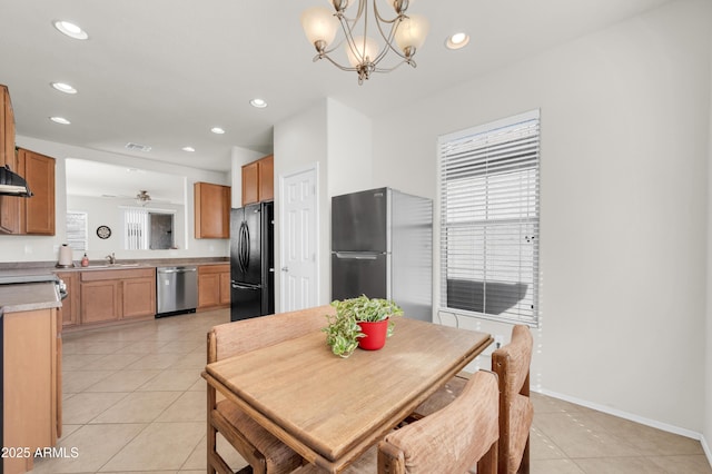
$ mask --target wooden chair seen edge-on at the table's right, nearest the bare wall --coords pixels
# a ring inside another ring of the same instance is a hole
[[[530,366],[534,339],[528,326],[512,328],[512,340],[492,353],[492,371],[500,376],[500,474],[528,474],[530,429],[534,405],[530,398]]]

